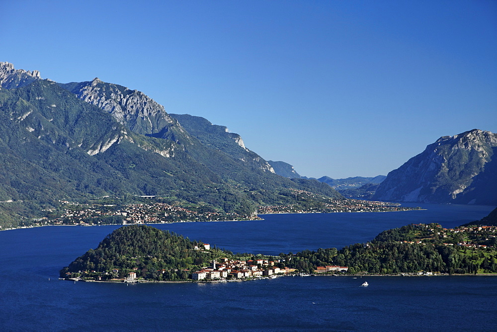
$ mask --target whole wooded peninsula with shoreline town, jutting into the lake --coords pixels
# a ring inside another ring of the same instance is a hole
[[[278,256],[237,253],[146,225],[121,227],[60,271],[71,280],[251,280],[305,274],[497,272],[497,226],[411,224],[365,244]]]

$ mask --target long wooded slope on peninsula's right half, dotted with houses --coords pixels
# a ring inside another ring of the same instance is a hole
[[[408,225],[380,233],[367,244],[340,250],[304,250],[290,260],[290,267],[312,271],[317,266],[348,266],[348,272],[379,274],[496,273],[496,228],[443,229],[438,224]]]

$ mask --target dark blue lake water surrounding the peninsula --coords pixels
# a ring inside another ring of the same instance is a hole
[[[235,252],[278,254],[366,242],[385,229],[410,223],[454,227],[494,208],[421,206],[427,210],[265,215],[263,221],[153,226]],[[494,276],[316,276],[130,286],[57,280],[60,268],[116,228],[0,232],[0,331],[497,330]],[[359,287],[363,281],[370,285]]]

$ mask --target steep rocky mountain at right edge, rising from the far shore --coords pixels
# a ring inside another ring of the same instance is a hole
[[[497,204],[497,134],[474,129],[444,136],[391,171],[373,199]]]

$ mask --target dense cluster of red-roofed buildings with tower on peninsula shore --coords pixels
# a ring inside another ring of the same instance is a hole
[[[273,274],[288,274],[296,271],[296,269],[288,267],[280,268],[274,264],[274,261],[263,258],[255,258],[246,261],[220,258],[219,262],[213,260],[211,266],[193,272],[191,278],[193,280],[226,278],[243,279],[271,276]]]

